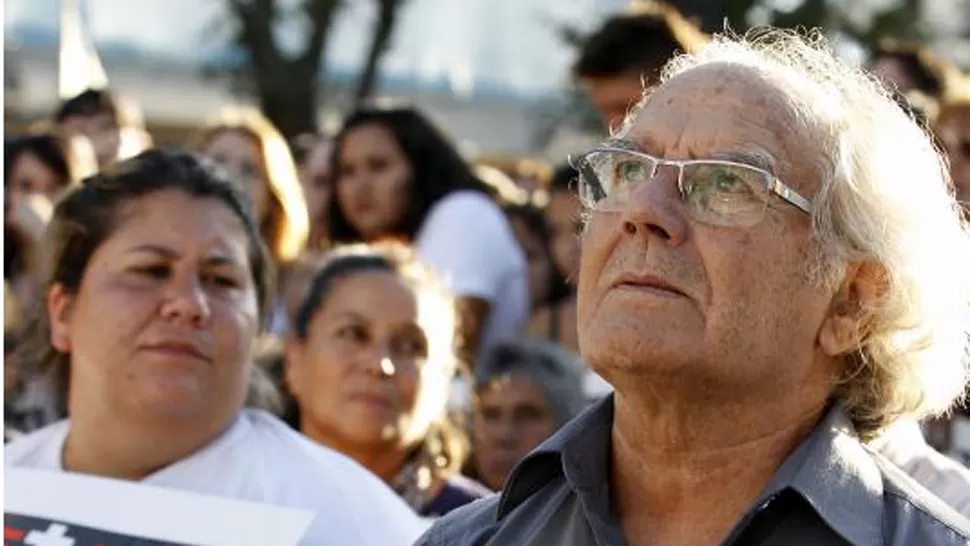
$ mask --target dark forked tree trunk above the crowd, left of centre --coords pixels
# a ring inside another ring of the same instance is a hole
[[[374,0],[378,17],[367,61],[356,86],[355,102],[366,99],[378,80],[380,60],[390,44],[406,0]],[[299,15],[307,38],[301,51],[285,53],[273,37],[284,14],[280,0],[226,0],[235,23],[232,42],[244,61],[233,76],[237,87],[252,92],[263,114],[286,137],[315,132],[317,112],[325,101],[320,77],[326,68],[327,43],[344,0],[302,0]]]

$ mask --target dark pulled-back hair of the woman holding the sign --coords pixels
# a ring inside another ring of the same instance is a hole
[[[260,324],[265,324],[273,301],[272,262],[261,242],[249,200],[221,172],[193,153],[152,149],[86,178],[54,208],[43,242],[42,294],[54,285],[77,294],[91,256],[119,227],[123,207],[147,195],[177,189],[192,197],[217,199],[239,218],[249,240]],[[48,375],[58,399],[66,400],[70,355],[51,345],[45,298],[40,298],[34,309],[23,349],[25,365]]]

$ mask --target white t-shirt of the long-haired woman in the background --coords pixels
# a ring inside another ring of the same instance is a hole
[[[458,297],[489,302],[480,349],[522,333],[529,318],[528,265],[505,215],[488,195],[457,191],[441,199],[414,246]]]

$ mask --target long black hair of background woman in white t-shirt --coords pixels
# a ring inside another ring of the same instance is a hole
[[[337,184],[344,140],[351,131],[365,125],[380,125],[389,130],[411,166],[411,201],[405,217],[395,226],[394,235],[413,239],[431,207],[452,192],[474,190],[488,194],[485,184],[475,177],[458,151],[427,118],[412,108],[367,108],[357,110],[344,120],[334,139],[332,156],[331,172]],[[330,200],[328,218],[330,237],[335,243],[361,240],[360,233],[344,215],[340,199]]]

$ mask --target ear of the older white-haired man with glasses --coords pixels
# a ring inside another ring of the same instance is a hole
[[[861,262],[847,268],[818,333],[819,347],[826,355],[842,355],[860,345],[872,325],[872,309],[886,289],[882,266]]]

